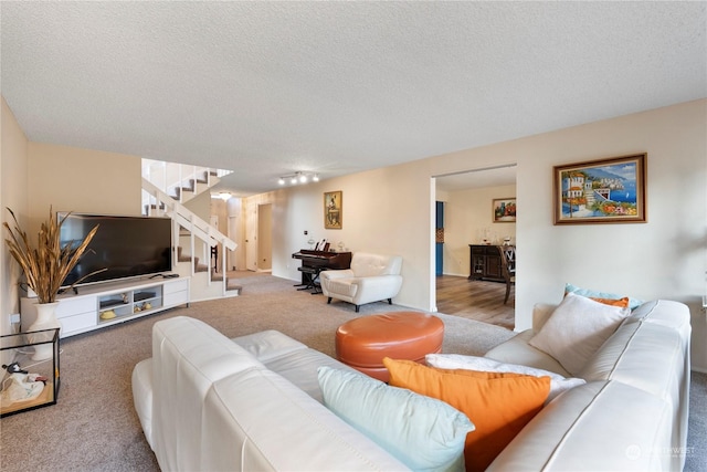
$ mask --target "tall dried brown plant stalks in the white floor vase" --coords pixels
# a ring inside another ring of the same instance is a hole
[[[50,207],[49,221],[42,222],[36,247],[33,248],[27,232],[20,228],[20,223],[12,210],[8,208],[8,211],[14,220],[14,229],[10,228],[7,222],[3,223],[10,233],[10,237],[4,240],[10,254],[22,268],[27,285],[36,293],[38,302],[55,302],[62,282],[81,260],[81,256],[88,248],[88,243],[98,231],[98,225],[96,224],[81,243],[72,240],[62,248],[60,241],[62,224],[71,213],[66,213],[59,219]],[[86,274],[74,284],[80,283],[88,275],[103,271],[105,269]]]

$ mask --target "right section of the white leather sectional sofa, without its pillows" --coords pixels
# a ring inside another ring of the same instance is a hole
[[[537,305],[534,327],[486,353],[563,376],[528,340],[553,305]],[[679,471],[687,452],[689,310],[652,301],[635,308],[578,377],[585,385],[546,406],[496,458],[494,471]]]

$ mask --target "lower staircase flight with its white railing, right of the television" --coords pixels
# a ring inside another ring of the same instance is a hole
[[[148,201],[148,216],[165,216],[173,222],[172,260],[177,261],[177,273],[191,277],[191,300],[197,302],[240,295],[241,287],[223,276],[228,259],[225,251],[234,251],[238,244],[145,177],[143,193]],[[200,262],[211,262],[211,248],[214,247],[224,251],[220,274],[210,270],[209,263]]]

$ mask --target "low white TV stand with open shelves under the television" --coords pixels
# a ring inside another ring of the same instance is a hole
[[[62,325],[60,337],[74,336],[106,326],[189,305],[190,277],[139,279],[77,287],[59,295],[56,318]],[[22,331],[36,319],[36,298],[20,302]]]

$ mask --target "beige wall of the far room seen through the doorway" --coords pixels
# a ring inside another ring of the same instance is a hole
[[[515,185],[437,193],[444,201],[444,274],[468,276],[468,245],[481,244],[485,237],[494,244],[503,244],[506,237],[515,243],[516,223],[495,223],[492,214],[494,199],[515,196]]]

